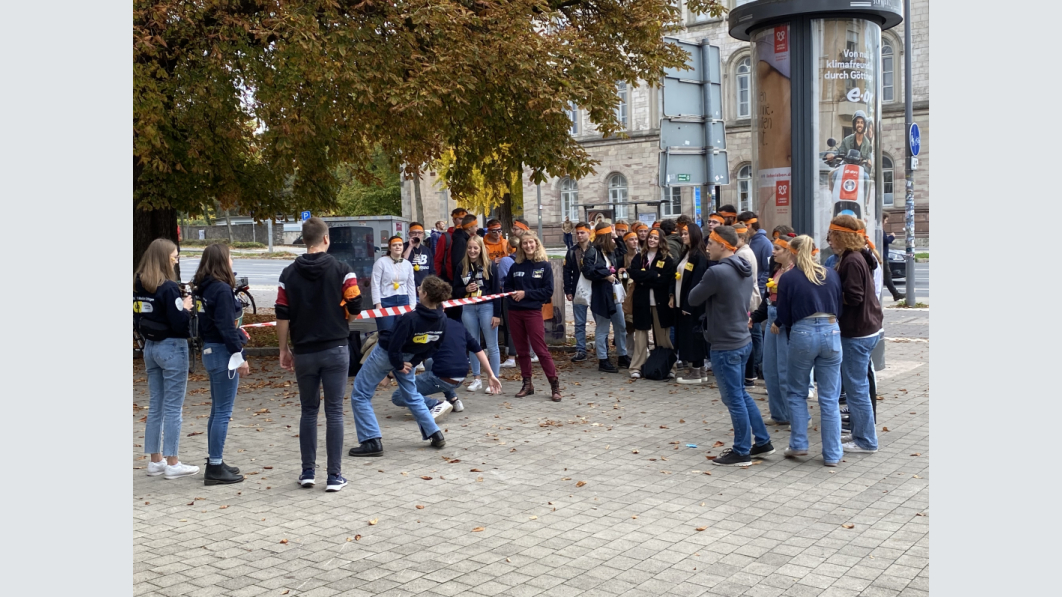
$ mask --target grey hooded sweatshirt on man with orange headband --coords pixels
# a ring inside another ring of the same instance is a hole
[[[732,255],[708,268],[689,291],[690,305],[704,303],[704,339],[713,351],[735,351],[752,342],[749,296],[755,284],[752,266]]]

